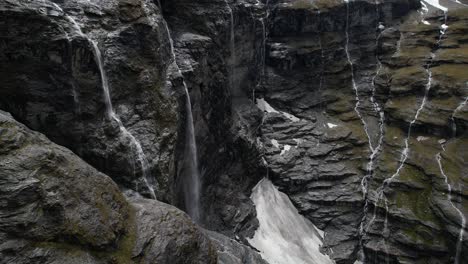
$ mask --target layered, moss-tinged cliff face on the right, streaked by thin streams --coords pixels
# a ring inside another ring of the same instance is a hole
[[[457,244],[466,248],[457,243],[466,164],[449,162],[458,150],[447,146],[465,142],[467,11],[449,10],[439,41],[443,13],[431,8],[421,21],[412,11],[418,6],[270,7],[267,75],[258,89],[273,108],[261,126],[270,176],[325,231],[324,250],[339,263],[353,263],[362,248],[366,263],[449,262]],[[438,153],[451,171],[448,182],[458,186],[452,203]]]

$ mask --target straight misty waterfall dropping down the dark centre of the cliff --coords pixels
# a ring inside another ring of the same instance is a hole
[[[197,142],[195,138],[195,126],[193,122],[192,114],[192,102],[190,99],[190,93],[187,88],[187,84],[183,79],[182,71],[177,65],[176,54],[174,50],[174,40],[171,37],[171,31],[167,23],[164,23],[166,34],[169,38],[169,44],[171,49],[171,55],[173,63],[176,66],[176,69],[180,76],[182,76],[182,84],[184,86],[185,96],[186,96],[186,128],[185,128],[185,153],[184,153],[184,167],[183,175],[179,175],[183,179],[183,191],[184,191],[184,205],[185,210],[190,215],[190,217],[195,221],[200,221],[200,190],[201,190],[201,177],[198,167],[198,150]]]

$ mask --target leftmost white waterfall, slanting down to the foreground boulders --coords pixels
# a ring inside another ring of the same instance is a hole
[[[120,132],[126,138],[130,140],[132,144],[132,149],[135,148],[137,161],[141,165],[141,170],[143,174],[142,175],[143,182],[145,183],[145,186],[148,189],[151,195],[151,198],[156,199],[156,192],[154,191],[152,184],[150,184],[149,182],[149,178],[151,175],[149,172],[148,160],[146,159],[145,153],[143,152],[143,148],[141,147],[140,142],[127,130],[127,128],[125,128],[119,116],[114,112],[114,109],[112,107],[112,101],[111,101],[111,96],[109,92],[109,82],[107,80],[107,75],[104,69],[104,63],[102,61],[102,55],[101,55],[101,51],[99,50],[98,44],[95,41],[91,40],[86,34],[84,34],[83,31],[81,30],[81,27],[78,25],[78,23],[72,17],[66,15],[66,13],[62,10],[60,6],[58,6],[55,3],[53,3],[53,5],[57,9],[59,9],[62,13],[64,13],[65,18],[73,25],[73,29],[75,30],[75,33],[77,33],[78,36],[85,38],[91,44],[94,59],[96,61],[96,65],[98,66],[100,77],[101,77],[101,87],[104,93],[104,104],[106,106],[107,117],[110,120],[113,120],[118,124]],[[67,35],[67,38],[68,38],[68,35]],[[74,93],[76,93],[76,91],[74,91]]]

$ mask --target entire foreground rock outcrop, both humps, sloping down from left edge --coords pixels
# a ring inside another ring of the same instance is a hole
[[[0,263],[264,263],[171,205],[127,201],[108,176],[5,112],[0,176]]]

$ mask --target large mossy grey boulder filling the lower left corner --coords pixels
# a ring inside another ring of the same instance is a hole
[[[66,259],[67,248],[79,263],[93,259],[84,248],[116,247],[127,232],[129,206],[109,177],[4,112],[0,157],[1,263]]]

